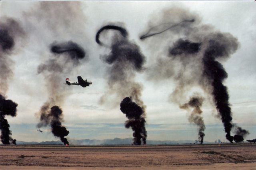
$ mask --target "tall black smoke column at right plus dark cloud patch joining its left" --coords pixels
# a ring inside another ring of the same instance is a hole
[[[200,51],[200,47],[203,52],[203,73],[202,76],[206,78],[207,83],[201,82],[201,85],[205,89],[208,88],[208,84],[211,85],[210,92],[214,99],[218,114],[220,115],[224,124],[226,138],[230,142],[233,141],[233,136],[230,135],[232,124],[232,112],[230,104],[228,102],[228,89],[223,85],[223,81],[228,77],[224,67],[220,62],[216,61],[216,58],[228,58],[238,48],[238,42],[236,38],[230,34],[215,33],[206,35],[206,40],[202,42],[190,42],[189,40],[178,40],[174,43],[174,46],[169,49],[170,56],[176,57],[180,54],[196,54]],[[185,55],[185,56],[186,56]],[[180,56],[180,60],[186,60],[184,56]],[[199,76],[199,75],[197,75]],[[240,127],[239,127],[240,128]],[[239,128],[236,130],[236,142],[241,142],[243,136],[248,134],[246,130],[242,130],[245,133],[240,133]]]

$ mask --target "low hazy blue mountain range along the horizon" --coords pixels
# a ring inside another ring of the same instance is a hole
[[[105,139],[105,140],[96,140],[96,139],[82,139],[82,140],[69,140],[70,145],[130,145],[132,144],[132,138],[114,138],[114,139]],[[147,140],[149,145],[157,144],[186,144],[193,143],[195,140]],[[24,142],[17,141],[17,144],[36,144],[36,145],[60,145],[63,144],[60,140],[58,141],[45,141],[45,142]],[[210,143],[210,142],[204,142]]]

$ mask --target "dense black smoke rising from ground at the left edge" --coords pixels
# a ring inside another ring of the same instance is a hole
[[[4,96],[0,94],[0,130],[1,130],[1,142],[3,144],[16,144],[16,139],[12,139],[12,132],[10,131],[10,125],[5,119],[5,116],[16,116],[18,104],[12,100],[6,100]]]

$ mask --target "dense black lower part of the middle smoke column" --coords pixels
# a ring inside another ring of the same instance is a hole
[[[126,114],[126,117],[128,118],[128,120],[125,122],[125,127],[131,127],[132,130],[134,131],[133,144],[140,145],[141,142],[143,142],[143,144],[146,144],[147,131],[145,128],[146,120],[144,118],[144,108],[132,102],[132,98],[126,97],[120,103],[120,110],[124,114]]]

